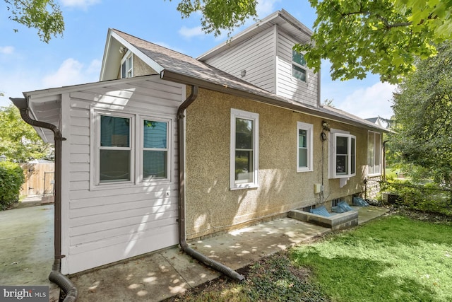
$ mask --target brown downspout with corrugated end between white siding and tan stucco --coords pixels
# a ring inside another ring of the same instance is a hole
[[[178,134],[177,139],[179,143],[179,153],[177,156],[177,161],[179,163],[179,245],[182,250],[186,252],[191,257],[194,257],[196,260],[203,262],[203,264],[208,267],[212,267],[216,269],[218,272],[225,274],[227,277],[231,279],[242,281],[244,277],[235,272],[230,267],[222,265],[219,262],[211,260],[209,257],[193,250],[189,247],[188,243],[186,243],[186,228],[185,228],[185,138],[184,138],[184,129],[185,129],[185,115],[184,112],[186,108],[194,102],[196,97],[198,96],[198,86],[191,86],[191,93],[184,103],[179,106],[177,110],[177,127]]]

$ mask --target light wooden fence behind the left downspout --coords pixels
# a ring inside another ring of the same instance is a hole
[[[23,163],[22,170],[25,175],[25,183],[20,189],[20,195],[54,194],[54,163]]]

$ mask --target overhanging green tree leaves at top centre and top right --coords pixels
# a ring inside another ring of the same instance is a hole
[[[415,69],[415,58],[436,54],[435,44],[452,35],[452,0],[309,0],[317,19],[311,44],[295,45],[306,52],[309,68],[321,59],[332,63],[333,79],[363,79],[380,74],[398,83]],[[182,17],[201,11],[206,33],[232,33],[246,17],[256,18],[257,0],[182,0]]]

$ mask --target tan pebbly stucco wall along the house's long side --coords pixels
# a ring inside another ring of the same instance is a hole
[[[230,190],[230,109],[259,114],[258,188]],[[290,209],[362,192],[367,130],[330,122],[357,137],[357,175],[339,188],[328,180],[323,119],[232,95],[200,89],[186,112],[186,235],[197,238],[256,222]],[[314,171],[297,173],[297,122],[314,125]],[[314,194],[322,182],[324,196]]]

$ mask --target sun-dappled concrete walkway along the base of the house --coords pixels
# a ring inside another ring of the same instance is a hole
[[[386,213],[379,207],[359,208],[359,223]],[[232,269],[239,269],[331,231],[311,223],[283,218],[191,242],[191,248]],[[78,301],[161,301],[219,277],[178,247],[71,277]]]

